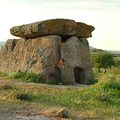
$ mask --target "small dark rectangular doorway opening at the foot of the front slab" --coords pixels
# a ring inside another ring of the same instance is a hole
[[[74,76],[75,76],[75,82],[78,84],[84,84],[85,81],[85,74],[84,69],[75,67],[74,68]]]

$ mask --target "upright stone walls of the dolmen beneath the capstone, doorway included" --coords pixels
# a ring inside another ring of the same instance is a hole
[[[0,71],[42,74],[49,80],[89,84],[94,79],[88,41],[57,35],[10,39],[0,52]]]

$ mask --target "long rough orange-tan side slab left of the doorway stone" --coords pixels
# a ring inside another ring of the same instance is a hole
[[[46,78],[56,79],[60,45],[61,37],[56,35],[8,40],[1,49],[0,70],[41,73]]]

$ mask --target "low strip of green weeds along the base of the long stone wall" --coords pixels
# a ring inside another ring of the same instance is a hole
[[[50,80],[50,79],[45,79],[42,75],[40,74],[35,74],[35,73],[29,73],[29,72],[22,72],[19,70],[16,73],[12,74],[6,74],[3,72],[0,72],[0,77],[7,77],[10,79],[15,79],[15,80],[20,80],[20,81],[25,81],[25,82],[35,82],[35,83],[45,83],[49,85],[58,85],[58,81],[56,80]],[[74,83],[71,81],[61,81],[62,85],[73,85]]]

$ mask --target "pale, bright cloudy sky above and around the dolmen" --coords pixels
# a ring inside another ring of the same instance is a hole
[[[91,46],[120,51],[120,0],[0,0],[0,41],[15,38],[13,26],[52,18],[93,25]]]

